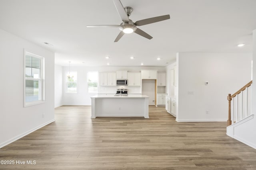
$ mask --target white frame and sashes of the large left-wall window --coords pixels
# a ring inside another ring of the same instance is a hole
[[[40,59],[40,75],[39,78],[28,78],[26,77],[26,55]],[[44,57],[30,53],[24,49],[24,107],[34,106],[37,104],[45,103],[45,76],[44,76]],[[39,100],[26,102],[26,80],[37,80],[38,81],[38,96]]]

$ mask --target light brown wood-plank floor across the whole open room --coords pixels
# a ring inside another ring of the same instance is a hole
[[[0,169],[256,170],[256,150],[226,135],[226,122],[176,122],[164,107],[150,119],[97,117],[61,106],[56,121],[0,149]]]

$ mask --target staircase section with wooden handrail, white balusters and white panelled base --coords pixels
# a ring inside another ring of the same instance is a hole
[[[228,94],[227,135],[256,149],[256,117],[252,114],[252,81]]]

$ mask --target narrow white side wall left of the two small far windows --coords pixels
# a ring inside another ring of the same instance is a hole
[[[54,107],[62,106],[63,93],[63,69],[62,66],[54,66]]]

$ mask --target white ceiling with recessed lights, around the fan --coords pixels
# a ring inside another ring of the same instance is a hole
[[[166,66],[177,52],[252,53],[256,0],[121,2],[134,9],[134,22],[171,18],[139,27],[151,40],[132,33],[114,43],[118,28],[86,27],[122,22],[112,0],[0,0],[0,28],[54,51],[62,66]],[[239,48],[240,43],[246,45]]]

